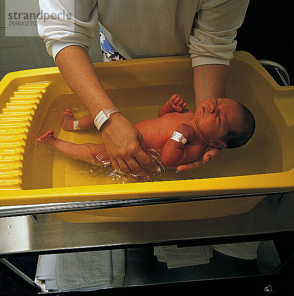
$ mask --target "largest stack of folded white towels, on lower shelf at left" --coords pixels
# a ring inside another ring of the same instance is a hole
[[[43,256],[36,277],[45,280],[46,290],[93,291],[124,285],[124,250]]]

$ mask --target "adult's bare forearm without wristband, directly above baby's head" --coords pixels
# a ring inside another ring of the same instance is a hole
[[[203,100],[225,97],[228,71],[220,64],[194,67],[195,107]]]

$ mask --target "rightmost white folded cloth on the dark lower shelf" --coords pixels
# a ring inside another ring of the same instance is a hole
[[[225,245],[213,245],[214,250],[222,254],[240,258],[240,259],[256,259],[259,242],[236,243]]]

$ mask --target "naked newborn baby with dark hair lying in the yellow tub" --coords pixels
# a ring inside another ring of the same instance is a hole
[[[255,131],[251,111],[236,100],[218,98],[204,100],[196,112],[185,109],[184,99],[175,94],[158,112],[158,118],[141,121],[135,126],[142,133],[147,149],[160,149],[161,164],[177,168],[196,160],[209,146],[238,148],[245,145]],[[86,129],[94,126],[91,115],[75,120],[71,110],[63,113],[64,130]],[[44,143],[65,155],[91,162],[110,164],[104,144],[75,144],[55,138],[53,131],[46,132],[37,142]]]

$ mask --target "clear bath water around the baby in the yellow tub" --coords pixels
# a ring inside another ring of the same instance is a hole
[[[148,86],[132,89],[110,89],[108,95],[122,114],[132,123],[157,117],[158,111],[166,101],[174,94],[181,95],[187,103],[187,108],[192,111],[194,106],[194,93],[191,85],[165,85]],[[73,93],[66,93],[52,100],[44,114],[43,120],[38,127],[38,135],[42,135],[48,130],[53,130],[54,135],[65,141],[77,144],[83,143],[103,143],[101,134],[95,127],[88,130],[64,131],[62,123],[64,109],[72,109],[76,119],[88,114],[88,111],[80,103]],[[255,112],[261,112],[257,108]],[[266,116],[261,114],[263,118]],[[271,139],[274,130],[272,123],[262,122],[262,129],[256,131],[255,139],[250,141],[245,147],[238,149],[223,149],[216,160],[205,164],[194,171],[177,173],[175,169],[165,169],[160,165],[159,151],[149,151],[154,161],[158,164],[160,172],[154,173],[151,181],[187,180],[198,178],[216,178],[228,176],[240,176],[247,174],[260,174],[268,172],[268,163],[278,171],[281,167],[279,158],[272,157],[272,150],[278,151],[280,148]],[[260,126],[260,123],[259,123]],[[258,139],[262,143],[267,143],[267,149],[259,145]],[[275,147],[274,147],[275,146]],[[34,144],[31,153],[30,171],[31,176],[24,184],[24,188],[50,188],[68,187],[81,185],[107,185],[118,183],[132,183],[130,179],[121,177],[111,166],[96,167],[90,163],[72,159],[46,145]],[[251,161],[258,159],[257,161]],[[260,163],[264,164],[260,166]],[[143,180],[142,182],[148,182]]]

